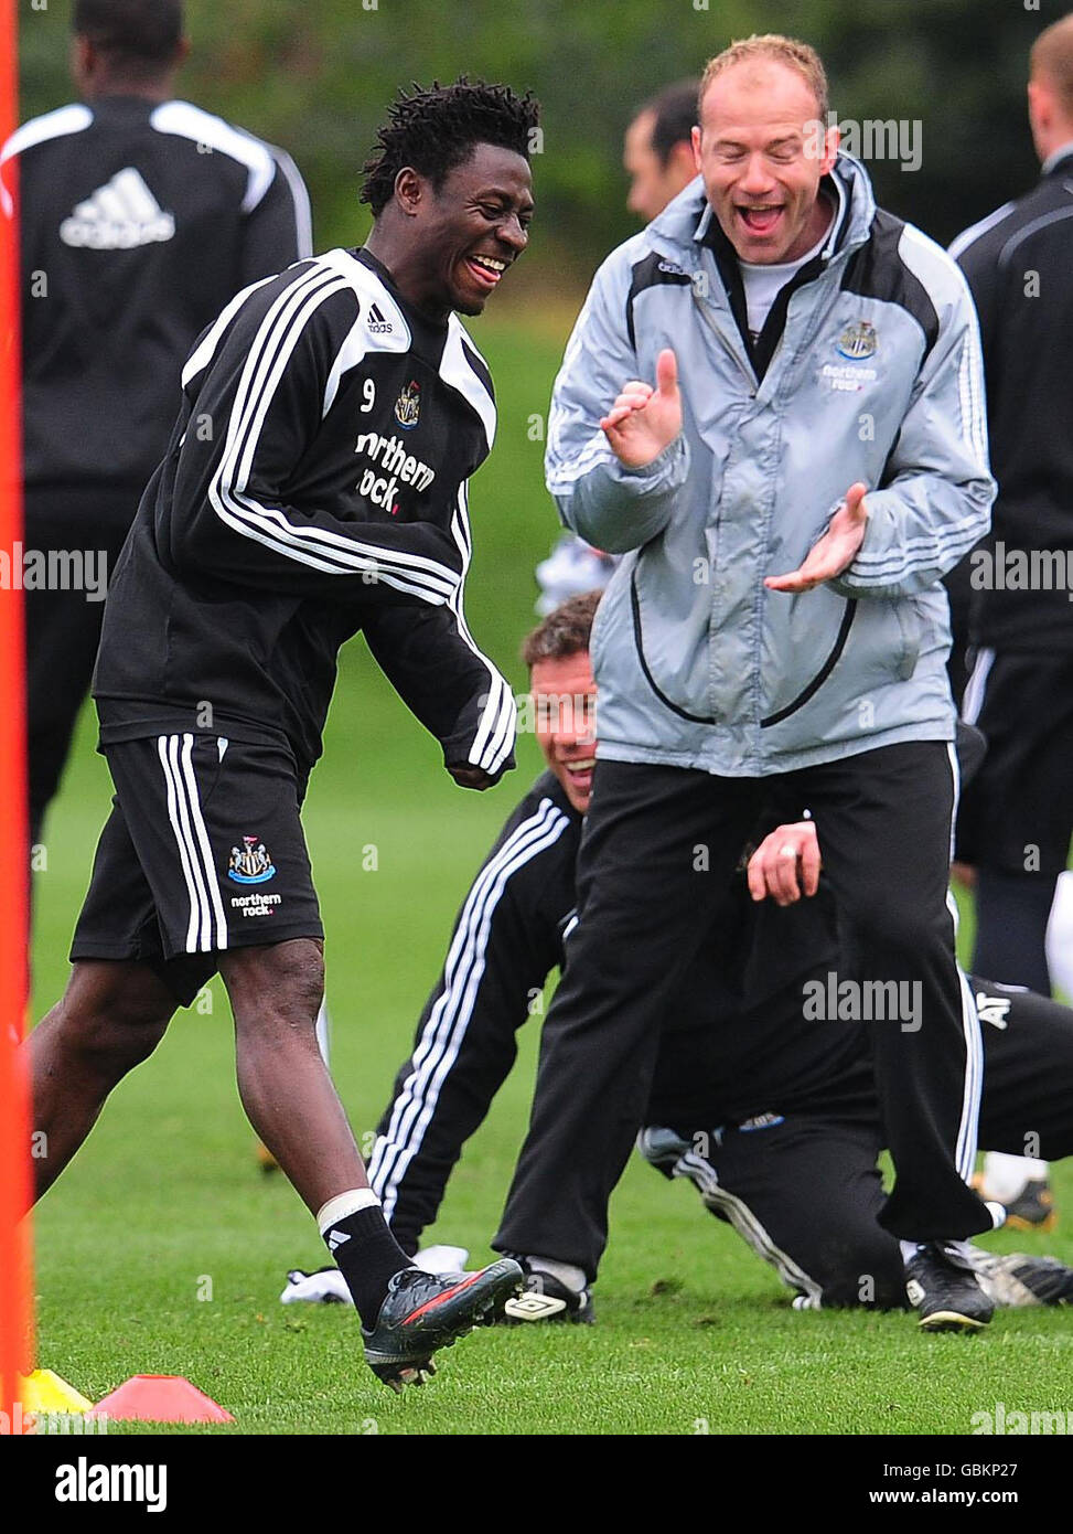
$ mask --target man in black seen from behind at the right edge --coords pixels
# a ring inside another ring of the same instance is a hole
[[[1044,937],[1073,831],[1073,15],[1032,51],[1042,176],[950,247],[984,348],[992,532],[963,571],[987,758],[958,816],[976,868],[973,965],[1050,991]]]

